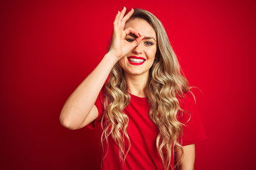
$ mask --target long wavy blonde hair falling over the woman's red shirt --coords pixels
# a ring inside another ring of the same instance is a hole
[[[181,67],[171,47],[164,26],[156,16],[143,9],[135,9],[129,21],[142,18],[147,21],[156,32],[157,51],[156,60],[149,70],[149,80],[144,93],[149,102],[149,118],[156,124],[159,134],[156,137],[156,148],[161,157],[164,169],[171,166],[171,154],[175,150],[183,149],[178,139],[183,132],[182,124],[177,120],[179,106],[178,98],[190,90],[187,79],[181,74]],[[129,22],[127,21],[127,22]],[[108,144],[108,137],[112,137],[119,147],[119,157],[125,161],[129,152],[130,140],[127,134],[129,118],[123,113],[130,103],[124,71],[119,63],[110,72],[110,79],[105,86],[105,113],[102,116],[102,147],[103,141]],[[129,143],[125,148],[124,141]],[[180,160],[176,160],[178,167]]]

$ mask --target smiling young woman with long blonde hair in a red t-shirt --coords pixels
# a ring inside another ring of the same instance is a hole
[[[102,169],[193,169],[194,144],[206,135],[188,81],[161,22],[142,9],[125,13],[118,11],[110,49],[70,95],[60,123],[75,130],[101,122]]]

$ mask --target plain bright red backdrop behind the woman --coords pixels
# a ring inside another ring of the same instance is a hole
[[[164,24],[192,86],[208,141],[196,169],[255,167],[253,1],[6,1],[1,18],[1,169],[99,169],[97,130],[59,122],[68,96],[100,62],[122,6]]]

